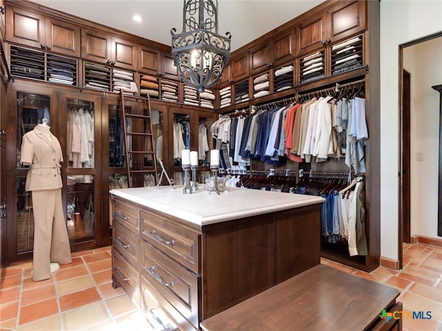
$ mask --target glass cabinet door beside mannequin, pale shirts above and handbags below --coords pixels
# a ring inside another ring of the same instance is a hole
[[[100,203],[95,187],[95,149],[101,134],[95,123],[97,106],[95,97],[82,94],[66,93],[61,100],[65,113],[59,116],[59,121],[64,121],[60,128],[66,128],[62,140],[66,150],[66,221],[70,243],[75,245],[95,245],[97,234],[102,232],[96,218]]]

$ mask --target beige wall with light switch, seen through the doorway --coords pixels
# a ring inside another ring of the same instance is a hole
[[[411,74],[411,234],[437,237],[442,37],[404,48]],[[422,156],[421,161],[416,157]]]

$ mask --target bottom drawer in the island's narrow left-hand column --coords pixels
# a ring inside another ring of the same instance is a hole
[[[140,272],[135,270],[115,248],[112,250],[112,275],[133,302],[140,306]]]

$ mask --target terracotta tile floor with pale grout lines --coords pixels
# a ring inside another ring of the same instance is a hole
[[[431,311],[427,320],[403,320],[403,330],[442,331],[442,248],[404,245],[403,270],[379,267],[361,272],[328,260],[322,263],[401,291],[403,310]],[[73,254],[46,281],[30,277],[32,262],[11,265],[0,292],[3,330],[153,330],[122,288],[112,288],[111,248]]]

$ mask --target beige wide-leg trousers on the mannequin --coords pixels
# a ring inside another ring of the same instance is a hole
[[[32,191],[34,213],[33,280],[50,279],[50,262],[72,262],[61,188]]]

